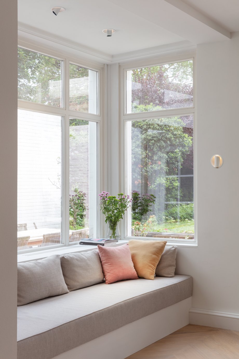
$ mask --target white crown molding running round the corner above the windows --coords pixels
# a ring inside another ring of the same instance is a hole
[[[102,64],[115,64],[130,62],[135,59],[140,60],[152,56],[164,56],[164,55],[177,55],[178,53],[194,52],[196,45],[190,41],[174,42],[167,45],[160,45],[155,47],[144,48],[140,50],[118,53],[116,55],[110,55],[106,52],[96,50],[94,48],[82,45],[70,39],[57,36],[44,30],[32,27],[24,23],[18,23],[18,35],[19,40],[24,42],[30,42],[38,46],[44,46],[51,50],[55,50],[67,55],[73,55],[77,57],[83,57],[96,61],[100,65]]]

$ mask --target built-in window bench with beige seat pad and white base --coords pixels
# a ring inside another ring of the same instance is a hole
[[[188,324],[191,295],[192,278],[175,275],[99,283],[20,305],[18,359],[123,359]]]

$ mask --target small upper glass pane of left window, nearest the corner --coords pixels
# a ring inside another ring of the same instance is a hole
[[[97,115],[97,71],[70,64],[70,110]]]

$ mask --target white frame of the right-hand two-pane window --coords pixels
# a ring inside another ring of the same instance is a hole
[[[138,112],[138,113],[126,113],[126,71],[138,69],[141,67],[150,67],[150,66],[157,66],[163,64],[169,64],[173,62],[181,62],[181,61],[193,61],[193,105],[192,107],[184,107],[179,109],[167,109],[167,110],[159,110],[159,111],[150,111],[150,112]],[[119,103],[119,113],[120,113],[120,187],[124,188],[124,193],[127,192],[127,158],[126,158],[126,146],[127,146],[127,138],[126,138],[126,123],[128,121],[134,120],[148,120],[152,118],[162,118],[162,117],[172,117],[172,116],[185,116],[185,115],[193,115],[193,186],[194,186],[194,194],[193,194],[193,201],[194,201],[194,239],[169,239],[169,238],[152,238],[147,237],[147,239],[155,240],[155,241],[164,241],[167,240],[168,244],[178,244],[182,246],[196,245],[197,244],[197,181],[196,181],[196,173],[197,173],[197,166],[196,166],[196,54],[195,53],[185,53],[177,56],[168,56],[159,58],[153,58],[148,60],[141,60],[138,62],[130,62],[128,64],[124,64],[120,66],[119,71],[119,82],[120,82],[120,103]],[[124,220],[121,221],[120,224],[120,232],[124,233],[124,239],[143,239],[141,237],[132,237],[127,236],[127,214],[124,216]],[[122,238],[123,239],[123,238]]]

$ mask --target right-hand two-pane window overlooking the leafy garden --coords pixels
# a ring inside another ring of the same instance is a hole
[[[194,241],[192,64],[126,70],[127,237]]]

